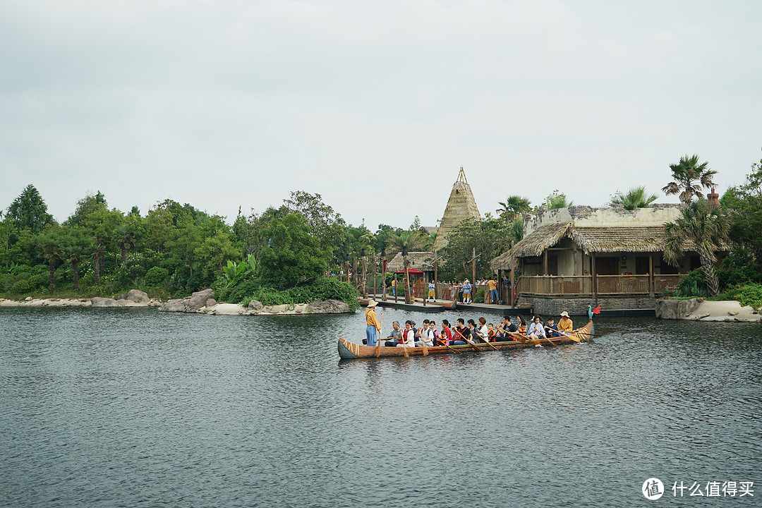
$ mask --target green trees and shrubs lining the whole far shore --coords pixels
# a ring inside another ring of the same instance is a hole
[[[721,207],[703,197],[715,185],[716,171],[698,155],[685,155],[669,169],[671,181],[661,190],[678,195],[683,209],[680,219],[665,225],[664,262],[673,264],[685,249],[695,251],[701,263],[682,274],[677,290],[662,296],[732,299],[758,310],[762,161],[751,166],[744,184],[725,191]],[[654,197],[645,187],[616,190],[609,205],[648,208]],[[88,193],[59,223],[30,184],[0,209],[0,299],[5,306],[28,299],[75,305],[93,298],[119,301],[120,294],[139,290],[166,303],[210,290],[216,305],[228,305],[219,312],[261,312],[250,306],[254,302],[304,313],[307,307],[300,305],[328,301],[344,302],[351,312],[363,284],[372,287],[371,274],[381,273],[384,257],[402,252],[409,267],[408,251],[436,249],[439,280],[464,280],[472,273],[491,277],[489,261],[521,240],[524,213],[563,208],[571,200],[554,190],[535,206],[522,196],[507,196],[498,205],[498,216],[464,219],[440,248],[434,228],[423,227],[418,216],[407,228],[379,224],[373,232],[364,222],[347,224],[320,194],[303,190],[290,193],[278,208],[251,209],[248,215],[239,209],[232,224],[189,203],[164,200],[142,214],[136,206],[129,212],[110,208],[101,192]],[[472,259],[474,252],[479,255]],[[379,288],[381,278],[376,275]],[[387,273],[387,286],[391,279]]]

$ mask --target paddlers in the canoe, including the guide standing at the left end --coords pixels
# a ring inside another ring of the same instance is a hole
[[[365,312],[367,322],[367,345],[375,347],[378,344],[381,324],[376,317],[376,302],[371,300]],[[555,320],[549,318],[544,321],[539,315],[534,316],[531,323],[523,316],[518,316],[517,323],[513,323],[511,318],[505,316],[498,324],[488,323],[486,318],[481,317],[474,321],[458,318],[456,324],[451,325],[450,321],[443,319],[441,327],[437,326],[437,321],[424,319],[421,327],[415,321],[405,321],[404,327],[399,321],[392,323],[392,332],[382,343],[386,347],[427,347],[434,346],[456,346],[467,343],[488,343],[488,342],[507,342],[509,340],[522,340],[522,337],[530,340],[539,340],[543,338],[562,337],[564,334],[571,333],[573,323],[569,318],[568,312],[561,313],[561,319],[556,324]]]

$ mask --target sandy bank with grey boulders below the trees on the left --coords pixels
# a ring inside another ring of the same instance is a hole
[[[257,300],[251,300],[248,307],[235,303],[218,303],[213,298],[212,289],[194,292],[184,299],[162,300],[152,299],[146,292],[130,289],[129,292],[117,298],[94,296],[85,298],[46,298],[24,300],[9,300],[0,298],[0,307],[157,307],[159,312],[189,312],[209,315],[310,315],[310,314],[348,314],[349,305],[338,300],[325,302],[300,303],[296,305],[262,305]]]

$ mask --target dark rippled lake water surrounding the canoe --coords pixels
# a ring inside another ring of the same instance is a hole
[[[478,317],[389,309],[384,329],[432,316]],[[340,361],[361,313],[3,308],[0,505],[758,505],[762,325],[600,318],[595,331]],[[661,500],[643,497],[651,477]],[[681,481],[705,497],[674,497]],[[758,491],[706,497],[711,481]]]

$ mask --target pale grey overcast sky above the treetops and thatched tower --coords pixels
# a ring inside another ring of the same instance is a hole
[[[306,190],[374,230],[435,225],[461,165],[483,214],[656,192],[693,153],[722,193],[762,158],[760,60],[757,0],[4,0],[0,207],[232,222]]]

